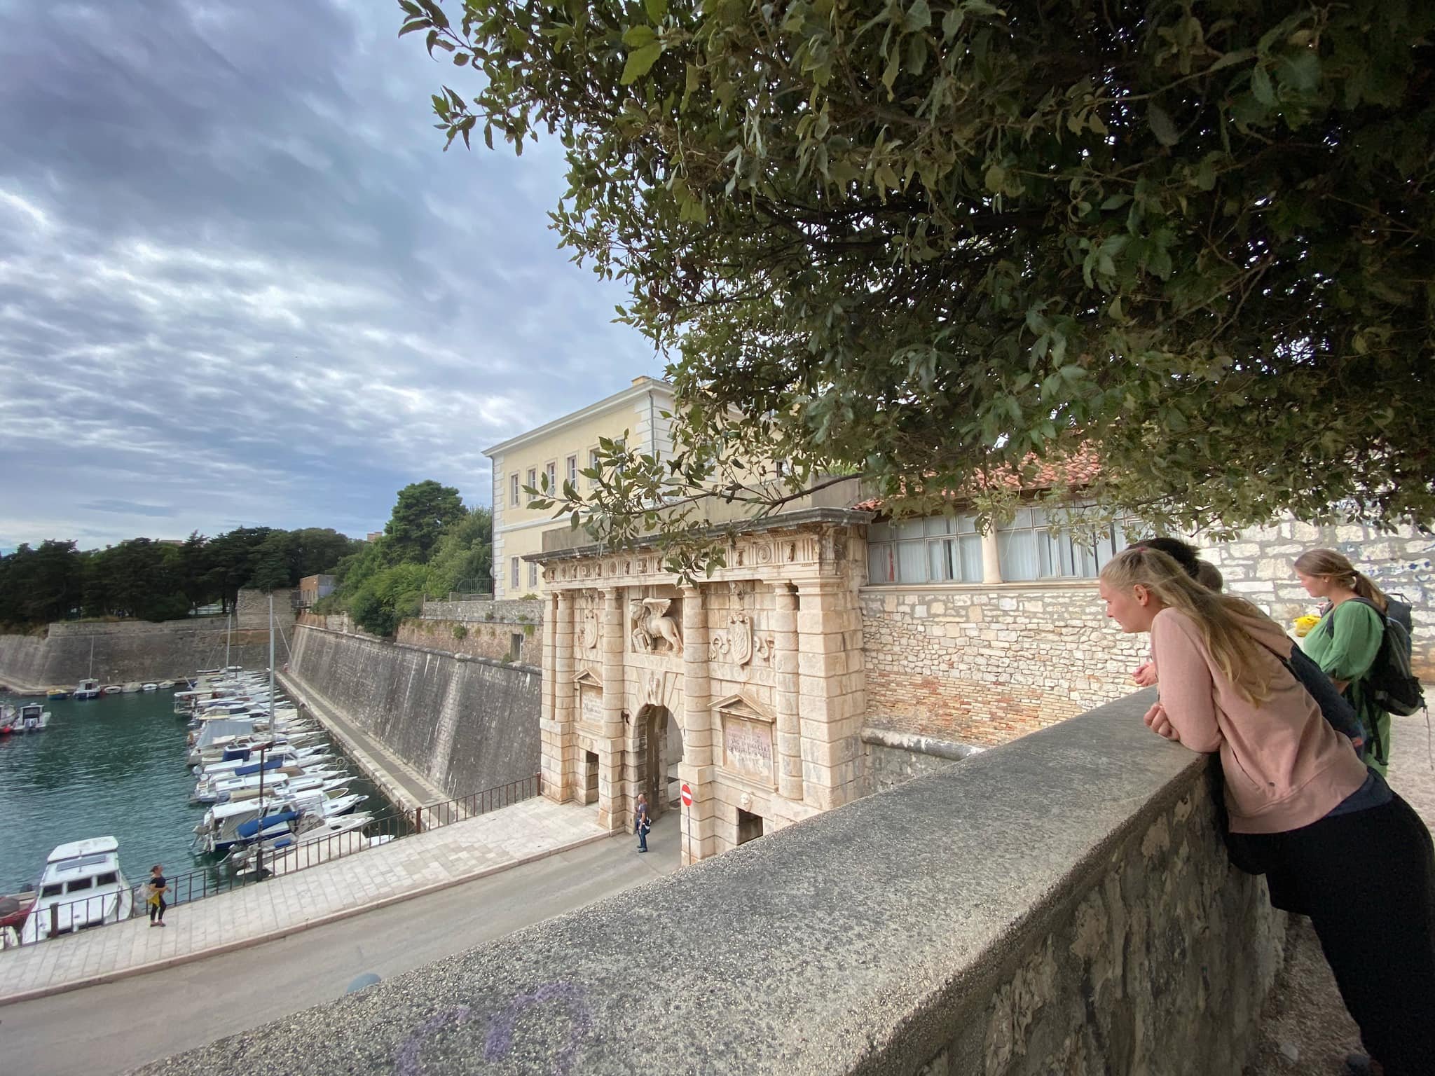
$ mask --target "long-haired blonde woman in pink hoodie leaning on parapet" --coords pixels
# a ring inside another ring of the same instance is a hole
[[[1435,1072],[1435,845],[1286,667],[1293,643],[1247,601],[1131,548],[1101,571],[1106,615],[1149,633],[1161,699],[1147,726],[1218,752],[1233,862],[1309,915],[1369,1060],[1347,1072]],[[1383,1067],[1382,1067],[1383,1066]]]

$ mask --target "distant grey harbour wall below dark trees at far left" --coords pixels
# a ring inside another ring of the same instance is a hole
[[[222,617],[50,624],[47,637],[0,636],[0,683],[33,692],[86,676],[106,684],[174,680],[224,664],[225,634]],[[276,646],[283,660],[283,643]],[[268,667],[268,631],[230,633],[230,663]]]

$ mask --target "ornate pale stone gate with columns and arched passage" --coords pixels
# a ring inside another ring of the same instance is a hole
[[[653,548],[544,535],[544,795],[631,826],[639,793],[682,811],[683,862],[862,793],[858,587],[870,514],[743,525],[728,567],[683,584]],[[567,548],[565,548],[567,547]]]

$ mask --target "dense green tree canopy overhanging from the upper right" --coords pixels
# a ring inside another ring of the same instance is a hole
[[[1435,518],[1432,4],[400,7],[451,145],[561,141],[561,244],[670,359],[674,453],[547,491],[610,535],[1079,449],[1157,524]]]

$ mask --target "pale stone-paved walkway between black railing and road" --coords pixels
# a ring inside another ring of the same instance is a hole
[[[542,796],[169,910],[0,951],[0,1006],[154,971],[610,836],[591,812]]]

